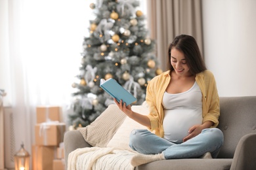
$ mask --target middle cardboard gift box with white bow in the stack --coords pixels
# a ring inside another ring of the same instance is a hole
[[[44,146],[58,146],[63,142],[65,123],[45,122],[35,125],[35,144]]]

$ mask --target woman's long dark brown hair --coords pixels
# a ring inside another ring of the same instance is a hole
[[[168,48],[169,69],[171,71],[173,70],[173,66],[171,65],[172,48],[176,48],[177,50],[183,52],[186,63],[188,64],[190,72],[193,75],[196,75],[206,70],[202,54],[199,50],[198,43],[196,42],[196,39],[194,39],[194,37],[190,35],[179,35],[175,37],[173,42],[171,42]]]

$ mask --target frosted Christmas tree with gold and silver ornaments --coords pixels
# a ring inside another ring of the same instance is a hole
[[[84,38],[77,89],[73,95],[69,124],[85,127],[95,120],[113,98],[100,88],[100,79],[114,78],[137,97],[145,100],[146,86],[162,71],[154,54],[155,42],[148,37],[145,16],[136,0],[101,0],[91,3],[95,19],[90,20]]]

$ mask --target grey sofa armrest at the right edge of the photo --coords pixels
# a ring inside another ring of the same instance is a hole
[[[230,170],[256,169],[256,133],[244,135],[236,146]]]

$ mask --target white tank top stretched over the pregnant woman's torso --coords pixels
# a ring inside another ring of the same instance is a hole
[[[188,135],[188,129],[202,124],[202,92],[195,82],[192,88],[182,93],[163,94],[163,131],[164,139],[173,143],[182,143]]]

